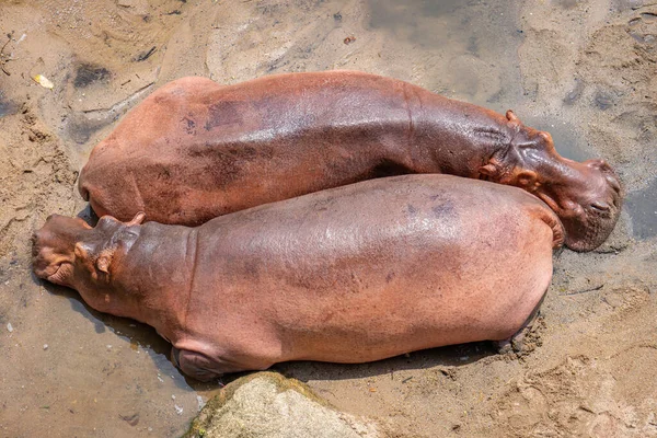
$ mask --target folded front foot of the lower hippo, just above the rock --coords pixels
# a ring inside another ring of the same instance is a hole
[[[239,364],[230,360],[211,358],[203,353],[178,349],[176,347],[171,348],[171,360],[173,361],[173,365],[185,374],[201,382],[217,379],[230,372],[265,370],[274,365],[273,362],[264,361],[262,364]]]

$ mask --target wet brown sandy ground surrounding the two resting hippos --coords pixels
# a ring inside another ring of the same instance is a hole
[[[391,437],[657,436],[657,5],[641,0],[2,0],[0,436],[175,436],[217,385],[168,344],[31,275],[30,235],[93,146],[183,76],[359,69],[512,107],[627,193],[599,250],[555,255],[522,357],[472,344],[376,364],[285,364]],[[9,34],[9,36],[8,36]],[[31,78],[44,74],[48,90]]]

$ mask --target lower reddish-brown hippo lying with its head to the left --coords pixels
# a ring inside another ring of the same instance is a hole
[[[402,175],[203,226],[50,216],[34,272],[153,326],[198,380],[280,361],[365,362],[504,341],[534,312],[564,229],[511,186]]]

